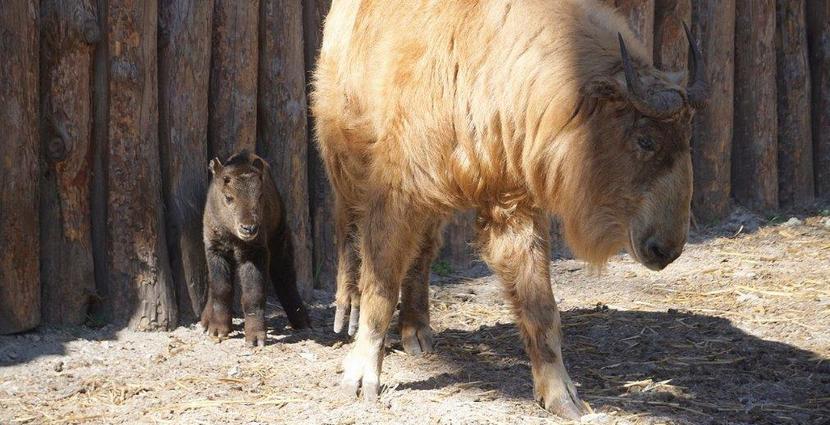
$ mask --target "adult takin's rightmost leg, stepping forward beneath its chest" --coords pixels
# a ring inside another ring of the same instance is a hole
[[[512,303],[532,365],[534,394],[548,411],[578,419],[584,405],[562,362],[559,310],[550,284],[548,218],[521,209],[498,216],[482,217],[482,256]]]

